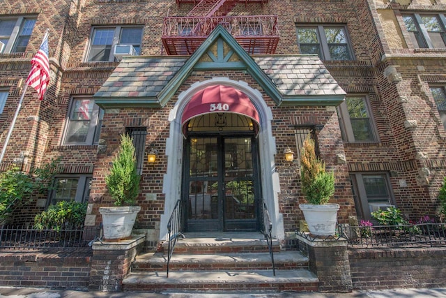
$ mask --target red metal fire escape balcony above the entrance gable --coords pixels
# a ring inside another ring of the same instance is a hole
[[[162,43],[167,54],[192,54],[222,25],[249,54],[274,54],[279,43],[277,15],[164,17]]]

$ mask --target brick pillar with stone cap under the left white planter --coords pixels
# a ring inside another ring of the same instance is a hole
[[[144,235],[132,235],[130,239],[116,242],[95,241],[89,290],[121,291],[123,279],[137,253],[141,251],[144,239]]]

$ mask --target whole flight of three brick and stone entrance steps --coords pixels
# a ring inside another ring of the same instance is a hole
[[[164,253],[137,255],[123,290],[153,291],[317,291],[318,278],[308,258],[298,251],[281,251],[278,240],[273,275],[268,244],[259,232],[186,233],[178,239],[167,277]]]

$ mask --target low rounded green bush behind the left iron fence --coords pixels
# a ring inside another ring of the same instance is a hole
[[[63,228],[82,228],[86,216],[87,203],[75,201],[61,201],[57,204],[49,205],[47,210],[37,214],[34,218],[34,228],[37,230],[52,229],[61,230]]]

